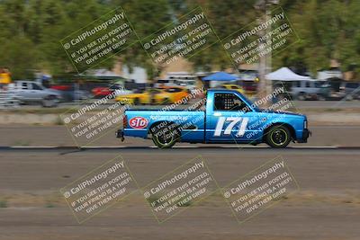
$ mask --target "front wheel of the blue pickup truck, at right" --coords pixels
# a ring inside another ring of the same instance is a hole
[[[292,134],[288,128],[275,125],[266,131],[266,144],[270,147],[284,148],[292,140]]]

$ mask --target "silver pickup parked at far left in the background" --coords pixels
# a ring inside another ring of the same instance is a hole
[[[32,81],[17,81],[10,88],[23,103],[40,102],[43,107],[56,107],[61,100],[61,93],[57,90]]]

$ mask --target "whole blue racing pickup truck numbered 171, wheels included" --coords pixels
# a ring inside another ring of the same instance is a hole
[[[152,138],[159,148],[176,142],[205,144],[266,143],[287,147],[306,143],[311,135],[306,116],[257,108],[234,90],[211,89],[206,98],[184,110],[127,110],[116,137]]]

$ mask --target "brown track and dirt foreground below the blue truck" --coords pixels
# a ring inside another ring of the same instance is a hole
[[[281,156],[300,190],[243,224],[218,195],[158,224],[138,192],[79,225],[58,190],[119,155],[140,187],[199,155],[221,187]],[[356,240],[359,160],[356,147],[2,147],[0,239]]]

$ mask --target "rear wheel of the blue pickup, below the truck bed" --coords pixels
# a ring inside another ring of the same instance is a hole
[[[158,148],[171,148],[175,145],[180,134],[171,126],[174,123],[163,122],[151,127],[152,141]]]

